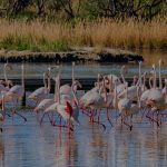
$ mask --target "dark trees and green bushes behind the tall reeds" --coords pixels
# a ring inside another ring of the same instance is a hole
[[[167,0],[0,0],[1,18],[69,21],[96,18],[166,17]]]

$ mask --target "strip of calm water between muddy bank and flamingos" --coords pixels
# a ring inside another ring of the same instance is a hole
[[[147,51],[144,50],[143,52],[136,51],[144,56],[144,63],[143,63],[143,71],[150,71],[151,65],[156,63],[158,66],[158,60],[161,58],[164,60],[163,66],[163,75],[167,75],[167,50],[161,51]],[[75,76],[78,78],[95,78],[98,73],[116,73],[119,75],[120,68],[122,65],[126,63],[94,63],[94,65],[77,65],[75,69]],[[49,66],[55,66],[55,63],[26,63],[24,70],[26,70],[26,78],[41,78],[42,72],[47,70]],[[129,68],[129,72],[126,77],[132,77],[138,72],[138,65],[127,65]],[[20,63],[13,63],[12,65],[13,70],[8,71],[9,78],[19,78],[20,77]],[[3,77],[2,73],[3,65],[0,65],[0,77]],[[158,69],[158,68],[157,68]],[[52,70],[52,75],[57,73],[57,69]],[[61,77],[62,78],[70,78],[71,77],[71,65],[62,65],[61,66]]]

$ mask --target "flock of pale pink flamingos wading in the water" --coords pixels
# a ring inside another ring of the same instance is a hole
[[[132,129],[134,116],[140,116],[150,124],[160,127],[164,117],[167,116],[167,79],[163,86],[161,79],[161,60],[158,61],[158,70],[153,65],[151,71],[141,72],[141,62],[139,62],[138,75],[134,77],[131,86],[125,79],[127,68],[120,69],[120,76],[116,75],[98,75],[95,87],[78,97],[77,89],[81,84],[75,79],[75,63],[72,63],[72,84],[60,86],[61,67],[49,67],[43,72],[43,87],[38,88],[29,94],[28,100],[36,102],[33,112],[42,112],[40,124],[45,116],[48,116],[52,126],[62,127],[69,131],[75,130],[75,125],[80,125],[79,114],[88,116],[89,121],[97,124],[106,129],[105,122],[108,121],[115,126],[116,119],[119,119],[121,127],[125,126],[129,130]],[[52,68],[57,68],[56,77],[51,77]],[[10,63],[4,63],[4,80],[0,80],[0,121],[6,121],[7,116],[13,117],[18,115],[24,121],[27,118],[17,111],[19,100],[24,96],[24,68],[21,66],[21,85],[14,85],[7,78],[7,69],[12,69]],[[50,98],[50,80],[55,80],[55,95]],[[146,87],[146,80],[149,88]],[[158,84],[157,84],[158,80]],[[7,112],[7,102],[12,102],[11,111]],[[112,117],[112,111],[117,112],[117,117]],[[106,115],[106,121],[100,120],[101,111]],[[52,115],[57,116],[55,120]],[[80,117],[81,118],[81,117]],[[2,131],[2,128],[0,128]]]

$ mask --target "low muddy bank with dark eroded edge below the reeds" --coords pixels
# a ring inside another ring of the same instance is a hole
[[[0,62],[134,62],[144,61],[143,56],[117,49],[97,51],[92,48],[73,49],[66,52],[31,52],[31,51],[0,51]]]

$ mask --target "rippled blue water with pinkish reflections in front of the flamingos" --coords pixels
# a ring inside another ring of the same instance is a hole
[[[167,166],[167,122],[157,130],[148,120],[134,120],[134,129],[122,130],[114,122],[101,121],[107,129],[88,122],[80,112],[80,126],[69,136],[67,129],[51,127],[46,117],[42,126],[38,117],[22,110],[28,121],[8,118],[0,134],[1,167],[157,167]],[[114,114],[115,115],[115,114]]]

